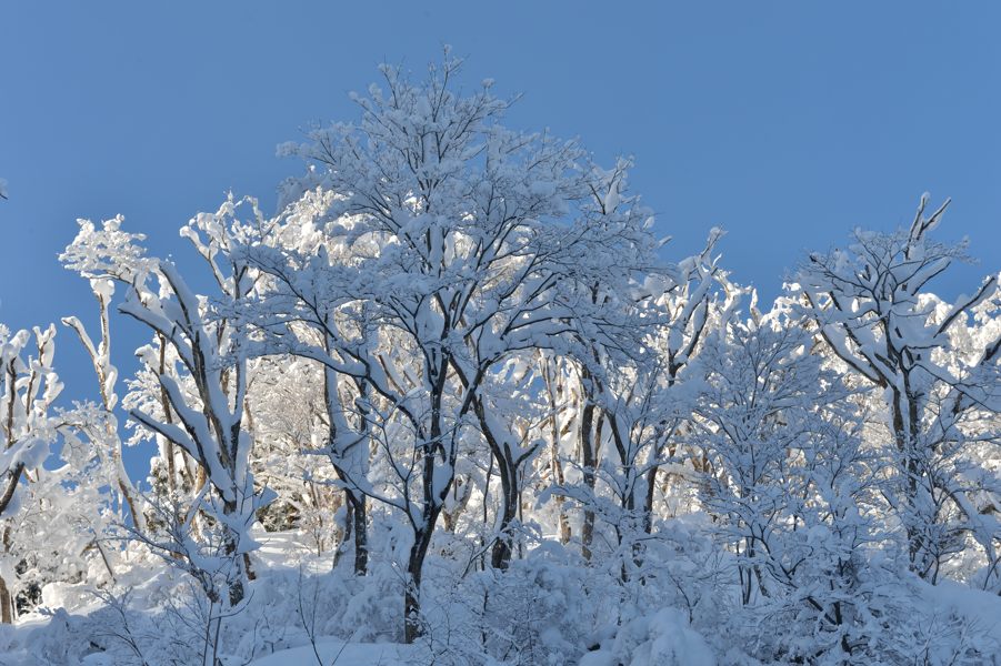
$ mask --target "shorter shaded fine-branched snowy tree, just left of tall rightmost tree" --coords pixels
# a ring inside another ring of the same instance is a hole
[[[865,506],[879,465],[862,451],[850,390],[788,316],[779,307],[730,322],[699,357],[701,498],[734,556],[738,615],[759,633],[752,654],[812,663],[833,650],[840,663],[870,654],[878,622],[862,569],[877,539]]]

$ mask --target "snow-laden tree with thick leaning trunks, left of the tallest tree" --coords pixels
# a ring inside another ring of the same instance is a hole
[[[262,216],[250,202],[251,221],[241,223],[237,218],[240,203],[230,198],[217,213],[199,214],[181,230],[211,269],[221,292],[218,307],[222,311],[231,311],[253,287],[251,269],[232,251],[261,232]],[[90,222],[82,222],[64,261],[82,274],[97,276],[103,272],[102,276],[127,282],[129,291],[119,310],[147,325],[170,347],[177,366],[163,367],[161,355],[152,346],[137,353],[166,393],[169,412],[157,417],[133,408],[130,416],[183,448],[207,481],[197,488],[194,504],[186,512],[170,508],[176,503],[161,511],[168,524],[166,541],[157,535],[143,536],[168,557],[181,558],[212,602],[223,601],[221,579],[227,601],[234,606],[243,599],[247,555],[256,547],[249,529],[256,512],[270,498],[270,494],[254,488],[250,470],[251,440],[243,424],[243,336],[224,314],[210,307],[206,297],[191,291],[172,262],[144,259],[142,248],[136,244],[142,238],[126,234],[120,224],[116,219],[98,231]],[[153,279],[157,291],[150,285]],[[182,381],[193,386],[193,393],[182,390]],[[199,543],[191,532],[199,512],[211,516],[207,543]]]

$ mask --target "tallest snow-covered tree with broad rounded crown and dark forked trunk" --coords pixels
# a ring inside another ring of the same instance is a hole
[[[629,266],[649,266],[657,246],[648,213],[620,198],[621,170],[587,167],[574,142],[504,129],[509,102],[489,84],[457,94],[459,67],[447,57],[420,83],[383,68],[388,90],[356,97],[359,124],[316,130],[288,149],[322,170],[298,190],[319,182],[334,193],[322,233],[347,249],[348,261],[329,243],[311,255],[252,253],[282,283],[276,302],[293,296],[289,316],[321,334],[293,353],[336,373],[328,385],[349,391],[357,408],[373,411],[378,396],[409,430],[417,456],[401,472],[398,496],[379,497],[412,528],[408,640],[418,635],[424,556],[484,377],[511,354],[578,333],[571,320],[587,316],[587,334],[609,336],[615,323],[600,316],[605,295]],[[601,297],[585,304],[594,293]],[[331,413],[343,413],[341,405]],[[332,450],[353,446],[362,427],[342,423]],[[507,539],[521,454],[517,436],[489,432],[505,480],[499,538]],[[344,477],[360,476],[358,462],[343,465]],[[347,483],[371,493],[363,478]],[[507,557],[499,551],[498,564]]]

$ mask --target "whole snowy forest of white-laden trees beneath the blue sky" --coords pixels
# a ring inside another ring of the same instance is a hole
[[[1001,285],[935,295],[948,200],[764,303],[460,67],[382,67],[183,261],[79,221],[93,301],[0,326],[0,664],[1001,664]]]

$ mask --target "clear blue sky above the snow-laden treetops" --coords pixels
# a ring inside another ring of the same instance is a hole
[[[1001,6],[988,2],[9,2],[0,16],[0,321],[78,314],[56,255],[77,218],[126,215],[158,253],[224,192],[273,205],[274,158],[382,61],[420,73],[450,43],[470,84],[523,92],[511,124],[635,157],[631,185],[694,251],[729,231],[734,278],[774,296],[805,250],[953,198],[945,239],[1001,269]],[[144,342],[118,320],[116,361]],[[92,379],[69,331],[57,364]],[[130,456],[137,476],[141,455]]]

